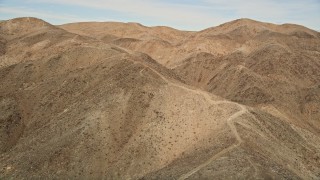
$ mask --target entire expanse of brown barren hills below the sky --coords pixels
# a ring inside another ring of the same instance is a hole
[[[1,21],[0,179],[320,179],[320,33]]]

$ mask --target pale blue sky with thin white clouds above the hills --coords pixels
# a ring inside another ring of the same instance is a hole
[[[0,19],[21,16],[52,24],[79,21],[139,22],[201,30],[250,18],[320,30],[320,0],[0,0]]]

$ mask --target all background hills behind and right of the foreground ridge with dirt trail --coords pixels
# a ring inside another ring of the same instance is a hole
[[[109,43],[148,54],[191,86],[241,104],[278,109],[296,124],[320,131],[319,32],[250,19],[200,32],[132,23],[60,27],[96,39],[113,36]]]

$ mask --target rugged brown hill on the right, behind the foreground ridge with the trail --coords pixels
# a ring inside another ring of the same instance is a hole
[[[210,41],[220,44],[223,52]],[[317,89],[320,82],[318,32],[241,19],[201,31],[184,46],[195,49],[192,45],[199,42],[204,52],[172,66],[187,83],[242,104],[275,107],[294,124],[319,133],[320,112],[314,108],[320,94],[313,90],[305,95],[305,89]],[[312,105],[302,105],[305,101]]]

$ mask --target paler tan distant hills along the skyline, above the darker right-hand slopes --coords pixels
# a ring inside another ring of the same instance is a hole
[[[319,33],[293,24],[276,25],[238,19],[199,32],[170,27],[146,27],[138,23],[84,22],[59,26],[66,31],[90,36],[122,48],[150,55],[172,68],[196,53],[228,55],[234,51],[250,54],[270,43],[294,49],[317,50]],[[309,41],[310,42],[305,42]],[[301,41],[303,40],[303,41]],[[157,47],[161,48],[157,48]],[[299,50],[300,51],[300,50]]]

